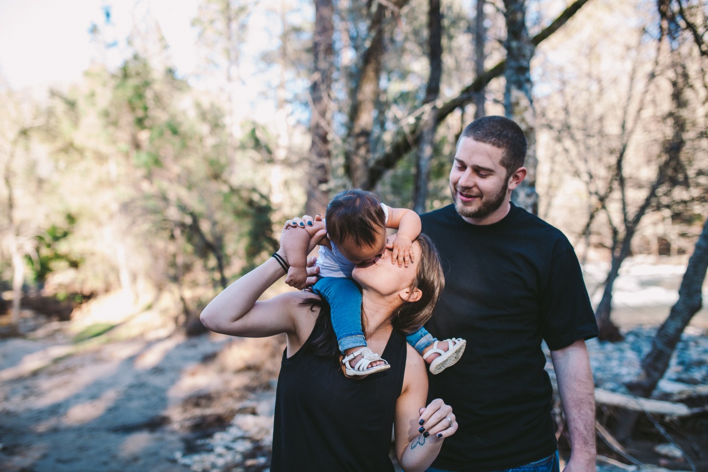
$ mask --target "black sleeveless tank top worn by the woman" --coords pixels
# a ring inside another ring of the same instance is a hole
[[[406,370],[406,340],[393,330],[382,353],[391,368],[348,379],[338,359],[307,349],[282,353],[275,393],[271,472],[392,472],[389,450]]]

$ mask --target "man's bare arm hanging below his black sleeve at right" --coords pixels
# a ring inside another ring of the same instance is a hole
[[[594,472],[595,384],[585,341],[551,351],[551,359],[571,435],[571,459],[564,472]]]

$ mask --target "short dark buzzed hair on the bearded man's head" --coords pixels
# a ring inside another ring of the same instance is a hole
[[[503,116],[477,118],[462,131],[462,138],[472,138],[504,150],[501,165],[506,168],[507,177],[524,165],[526,159],[526,137],[521,127]],[[459,145],[459,141],[457,142]]]

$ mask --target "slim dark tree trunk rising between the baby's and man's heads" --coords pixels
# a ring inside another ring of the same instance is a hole
[[[433,159],[435,129],[438,127],[432,117],[437,111],[434,103],[440,95],[440,76],[442,76],[442,16],[440,16],[440,0],[430,0],[428,32],[430,76],[426,87],[426,105],[429,105],[430,108],[425,113],[423,137],[421,144],[418,146],[418,161],[416,161],[416,188],[415,195],[413,195],[413,211],[418,214],[426,212],[430,161]]]

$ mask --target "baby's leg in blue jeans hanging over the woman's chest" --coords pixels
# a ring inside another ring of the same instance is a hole
[[[366,338],[361,328],[361,292],[358,285],[346,277],[322,277],[312,289],[329,303],[332,328],[337,336],[339,350],[348,356],[366,347]],[[361,358],[362,355],[354,357],[350,365],[355,366]],[[382,364],[385,364],[382,360],[373,361],[369,367]]]

